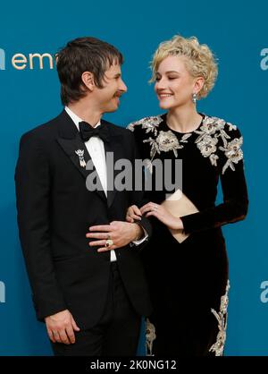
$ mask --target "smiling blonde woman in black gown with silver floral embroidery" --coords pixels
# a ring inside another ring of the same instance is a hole
[[[174,160],[182,160],[182,191],[198,212],[172,216],[160,205],[171,193],[164,187],[147,191],[150,202],[142,208],[128,210],[130,222],[145,214],[154,225],[143,252],[154,304],[147,346],[154,355],[222,355],[229,279],[221,227],[247,215],[242,136],[235,125],[197,112],[197,99],[205,98],[217,76],[214,55],[197,38],[175,36],[160,44],[152,70],[166,113],[130,123],[129,129],[143,159],[172,159],[173,176]],[[154,180],[155,168],[151,173]],[[223,201],[215,205],[219,179]],[[178,242],[170,229],[189,236]]]

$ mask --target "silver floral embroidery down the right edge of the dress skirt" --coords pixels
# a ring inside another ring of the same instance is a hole
[[[225,294],[221,297],[221,306],[219,313],[212,309],[214,317],[218,321],[219,332],[216,338],[216,342],[210,347],[209,352],[214,352],[215,356],[222,356],[224,350],[224,344],[226,341],[226,327],[227,327],[227,307],[228,307],[228,293],[230,289],[230,282],[227,281]]]

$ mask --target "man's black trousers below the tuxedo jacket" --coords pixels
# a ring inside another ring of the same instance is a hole
[[[116,262],[111,262],[107,302],[95,327],[75,332],[75,344],[52,343],[56,356],[135,356],[141,318],[130,303]]]

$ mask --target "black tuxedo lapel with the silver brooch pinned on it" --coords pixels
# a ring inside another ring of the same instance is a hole
[[[80,132],[78,131],[75,123],[72,122],[71,117],[67,115],[65,110],[63,111],[62,115],[59,116],[59,137],[57,141],[66,155],[70,157],[72,164],[86,179],[90,171],[87,170],[86,166],[83,166],[82,160],[84,160],[87,164],[91,157],[88,153],[88,149],[85,146],[85,143],[80,138]],[[82,156],[80,157],[78,153]],[[101,185],[98,174],[96,173],[95,166],[93,166],[93,170],[91,172],[94,172],[96,174],[96,177],[98,178],[98,184]],[[103,200],[107,200],[104,191],[96,189],[96,193]]]

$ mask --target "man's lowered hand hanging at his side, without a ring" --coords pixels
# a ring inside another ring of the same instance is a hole
[[[69,310],[63,310],[53,316],[46,317],[47,334],[53,343],[75,343],[74,331],[80,331]]]

